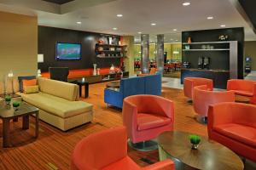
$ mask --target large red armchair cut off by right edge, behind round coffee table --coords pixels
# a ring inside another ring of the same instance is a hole
[[[210,106],[208,135],[209,139],[256,161],[256,106],[233,102]]]

